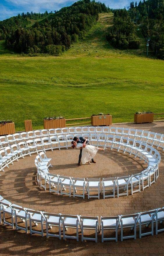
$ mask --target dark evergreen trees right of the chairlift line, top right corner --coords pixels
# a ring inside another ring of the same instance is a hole
[[[137,24],[140,33],[149,39],[149,46],[158,58],[164,58],[163,38],[163,0],[147,0],[143,2],[130,3],[129,15],[134,24]]]

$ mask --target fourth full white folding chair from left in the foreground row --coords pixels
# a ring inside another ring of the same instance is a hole
[[[60,213],[48,213],[43,212],[45,221],[46,221],[46,236],[47,238],[49,236],[58,237],[61,240],[61,217]],[[52,227],[58,227],[59,228],[59,234],[54,234],[52,232],[49,232],[49,227],[52,229]]]

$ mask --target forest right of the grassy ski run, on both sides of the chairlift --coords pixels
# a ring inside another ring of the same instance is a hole
[[[114,12],[114,25],[110,29],[107,40],[120,49],[138,49],[140,36],[148,40],[149,46],[154,54],[164,58],[163,40],[163,0],[147,0],[143,2],[130,3],[129,10],[117,9]]]

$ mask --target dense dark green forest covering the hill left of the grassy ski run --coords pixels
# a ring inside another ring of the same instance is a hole
[[[72,42],[83,38],[98,20],[98,14],[108,12],[104,3],[83,0],[64,7],[30,28],[17,28],[6,34],[6,46],[17,52],[59,55]]]

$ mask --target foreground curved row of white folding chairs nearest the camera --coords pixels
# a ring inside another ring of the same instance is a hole
[[[44,211],[35,211],[33,209],[23,208],[17,204],[12,204],[11,202],[3,199],[0,196],[0,223],[2,223],[1,213],[3,214],[3,224],[10,225],[14,229],[24,230],[28,233],[28,227],[30,229],[30,234],[40,234],[44,236],[44,225],[46,225],[46,236],[58,237],[59,239],[76,239],[79,241],[79,231],[81,232],[81,241],[92,240],[97,242],[97,234],[101,233],[101,241],[118,241],[118,230],[121,229],[121,241],[123,239],[129,239],[137,237],[137,227],[139,227],[139,238],[145,235],[154,235],[154,224],[155,224],[155,234],[164,231],[163,221],[164,221],[164,208],[158,208],[151,211],[145,211],[129,215],[118,215],[114,217],[103,217],[99,223],[99,217],[81,216],[81,215],[66,215],[61,213],[49,213]],[[11,217],[5,218],[6,214]],[[20,224],[20,221],[22,223]],[[23,224],[24,223],[24,224]],[[39,228],[34,229],[33,225],[41,225],[41,231]],[[143,231],[143,226],[151,227],[149,230]],[[58,234],[54,233],[53,227],[58,228]],[[67,233],[69,228],[76,229],[76,235],[70,235]],[[129,228],[131,231],[129,235],[124,235],[124,231]],[[85,229],[95,231],[95,237],[84,237],[83,232]],[[52,230],[52,231],[51,231]],[[107,237],[104,237],[105,230],[113,230],[112,234],[108,233]],[[133,233],[132,233],[133,231]],[[145,232],[146,231],[146,232]]]

